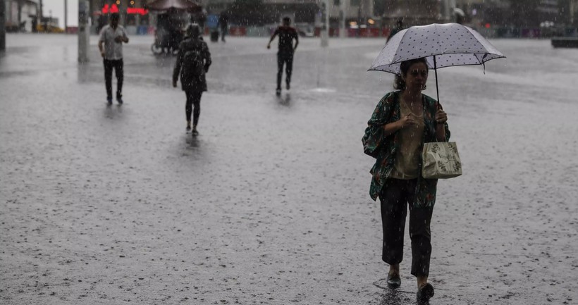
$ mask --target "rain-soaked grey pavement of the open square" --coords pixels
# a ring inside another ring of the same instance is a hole
[[[302,39],[281,97],[268,38],[209,43],[192,138],[174,57],[130,39],[107,107],[97,37],[79,66],[74,36],[7,35],[1,304],[415,304],[407,232],[386,287],[360,141],[382,40]],[[429,304],[577,304],[578,52],[491,42],[485,73],[438,71],[464,175],[438,184]]]

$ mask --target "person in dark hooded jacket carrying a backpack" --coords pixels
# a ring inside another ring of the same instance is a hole
[[[199,25],[192,24],[187,27],[187,37],[180,43],[175,69],[173,70],[173,87],[177,87],[178,77],[180,76],[180,85],[187,96],[185,105],[185,115],[187,118],[187,132],[191,130],[191,112],[192,118],[192,135],[199,134],[197,124],[199,123],[199,114],[201,113],[201,96],[207,91],[207,79],[205,73],[211,66],[211,53],[209,46],[200,39],[201,29]],[[187,52],[198,52],[202,60],[203,68],[197,72],[195,65],[190,65],[185,61]],[[195,108],[192,109],[192,106]]]

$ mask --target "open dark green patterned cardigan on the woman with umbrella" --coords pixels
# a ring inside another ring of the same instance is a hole
[[[367,129],[362,138],[364,153],[376,158],[373,168],[369,171],[372,175],[369,195],[374,200],[379,197],[383,185],[386,184],[386,180],[393,169],[395,152],[400,149],[398,132],[393,132],[393,134],[383,137],[383,126],[400,120],[400,96],[400,91],[389,92],[379,101],[374,113],[371,115],[371,119],[367,122]],[[422,143],[438,142],[436,139],[435,115],[437,108],[441,108],[441,105],[425,94],[422,94],[422,101],[424,103],[425,124]],[[445,140],[448,141],[450,139],[450,130],[448,129],[448,123],[444,125]],[[421,160],[419,161],[419,168],[422,168]],[[415,189],[417,196],[416,201],[413,203],[414,207],[433,207],[433,204],[436,203],[437,183],[437,179],[422,178],[420,172]]]

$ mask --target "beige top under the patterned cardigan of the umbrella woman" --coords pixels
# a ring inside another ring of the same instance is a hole
[[[401,116],[411,112],[404,101],[400,101]],[[410,180],[419,175],[419,158],[422,154],[422,138],[424,135],[424,113],[413,113],[417,117],[417,126],[405,127],[398,131],[400,149],[395,153],[395,161],[391,170],[391,178]]]

